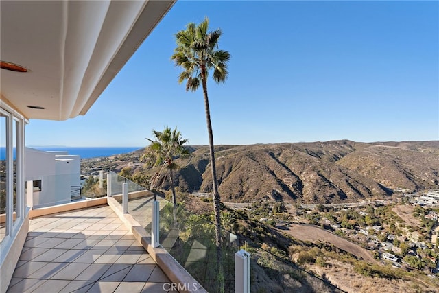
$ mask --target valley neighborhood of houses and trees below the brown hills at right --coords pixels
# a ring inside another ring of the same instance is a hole
[[[319,226],[322,231],[315,235],[316,242],[322,239],[322,234],[333,233],[369,250],[381,265],[418,270],[436,278],[439,273],[438,194],[437,190],[406,194],[395,200],[357,203],[356,207],[290,205],[293,216],[288,218],[292,220],[285,220],[285,215],[273,215],[278,217],[275,225],[282,230],[294,231],[298,224],[305,223]],[[296,233],[293,235],[300,238]],[[334,245],[337,246],[337,242]],[[361,259],[361,254],[356,256]]]

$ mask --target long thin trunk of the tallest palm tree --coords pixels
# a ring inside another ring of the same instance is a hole
[[[201,67],[201,78],[204,93],[204,107],[206,109],[207,132],[209,134],[209,150],[211,153],[212,185],[213,185],[213,210],[215,211],[215,240],[217,246],[217,265],[219,274],[222,274],[222,248],[221,248],[221,210],[219,209],[219,192],[217,185],[217,171],[215,166],[215,151],[213,150],[213,132],[211,124],[211,110],[207,96],[206,69]],[[222,288],[224,290],[224,288]]]

